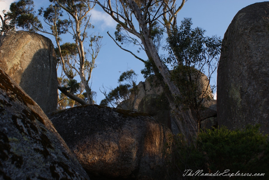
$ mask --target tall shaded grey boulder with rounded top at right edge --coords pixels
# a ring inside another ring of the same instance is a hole
[[[217,78],[218,125],[262,124],[269,133],[269,2],[249,5],[223,39]]]

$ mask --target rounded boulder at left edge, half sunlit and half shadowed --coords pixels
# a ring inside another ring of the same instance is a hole
[[[48,114],[57,108],[57,71],[50,39],[27,31],[0,39],[0,68]]]

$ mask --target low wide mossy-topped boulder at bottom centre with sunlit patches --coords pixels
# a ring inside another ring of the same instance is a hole
[[[49,118],[91,179],[164,179],[171,131],[154,118],[98,105]]]

